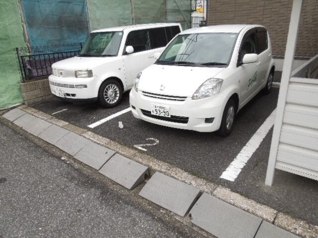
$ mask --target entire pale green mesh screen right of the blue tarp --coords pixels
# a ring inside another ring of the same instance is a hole
[[[191,0],[87,0],[87,9],[91,31],[133,22],[179,22],[183,29],[191,27]]]

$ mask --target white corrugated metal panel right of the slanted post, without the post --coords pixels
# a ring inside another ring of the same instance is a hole
[[[318,179],[318,80],[290,80],[275,168]]]

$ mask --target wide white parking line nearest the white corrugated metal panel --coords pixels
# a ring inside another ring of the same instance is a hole
[[[227,179],[234,181],[241,172],[242,168],[248,162],[250,157],[259,147],[260,143],[274,125],[276,109],[269,115],[269,117],[264,121],[264,123],[258,128],[255,134],[250,138],[247,144],[239,152],[235,160],[230,164],[230,166],[223,172],[221,179]]]

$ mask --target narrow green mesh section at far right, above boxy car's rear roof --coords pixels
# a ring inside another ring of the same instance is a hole
[[[179,22],[182,29],[191,28],[191,0],[166,0],[167,22]]]

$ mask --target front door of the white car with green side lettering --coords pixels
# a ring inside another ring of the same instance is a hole
[[[238,67],[240,77],[240,101],[246,104],[254,95],[257,88],[257,74],[259,63],[242,63],[245,54],[257,54],[255,31],[248,31],[241,42],[238,56]]]

